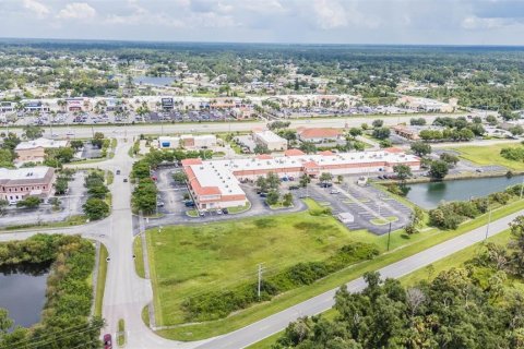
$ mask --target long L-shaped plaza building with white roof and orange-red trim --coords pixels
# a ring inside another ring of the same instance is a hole
[[[252,158],[223,160],[182,160],[188,185],[199,209],[217,209],[247,204],[240,182],[255,180],[270,172],[279,178],[312,178],[323,172],[338,174],[370,174],[392,172],[395,165],[420,169],[420,159],[397,148],[378,152],[332,153],[307,155],[289,149],[284,156],[259,155]]]

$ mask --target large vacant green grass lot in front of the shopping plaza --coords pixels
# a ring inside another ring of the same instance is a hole
[[[147,231],[158,326],[183,323],[188,296],[257,280],[298,262],[321,261],[352,242],[331,216],[307,212]]]

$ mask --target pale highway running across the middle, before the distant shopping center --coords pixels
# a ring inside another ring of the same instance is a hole
[[[420,115],[425,117],[428,123],[431,123],[437,117],[442,115]],[[452,115],[456,118],[464,115]],[[337,118],[319,118],[319,119],[298,119],[289,120],[291,128],[299,127],[313,128],[344,128],[360,127],[362,123],[371,124],[373,119],[383,119],[384,124],[394,125],[401,122],[409,123],[409,119],[414,116],[390,116],[390,117],[337,117]],[[211,123],[166,123],[166,124],[134,124],[134,125],[100,125],[91,128],[88,125],[72,125],[69,128],[53,128],[52,133],[58,137],[68,137],[67,133],[73,132],[74,137],[91,137],[93,132],[103,132],[107,136],[132,137],[140,134],[162,134],[162,133],[192,133],[192,132],[236,132],[252,131],[257,128],[264,127],[266,121],[252,122],[211,122]],[[21,128],[10,128],[11,132],[22,133]],[[45,136],[50,136],[49,128],[45,128]]]

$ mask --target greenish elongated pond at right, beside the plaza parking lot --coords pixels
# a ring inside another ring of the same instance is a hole
[[[500,192],[510,185],[520,184],[522,176],[512,178],[492,177],[475,178],[454,181],[409,184],[407,200],[422,208],[434,208],[441,201],[462,201],[473,197],[486,196]]]

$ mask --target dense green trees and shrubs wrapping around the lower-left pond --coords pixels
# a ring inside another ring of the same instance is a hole
[[[99,348],[100,318],[91,318],[93,244],[78,236],[37,234],[0,243],[0,265],[51,262],[40,323],[0,333],[0,348]]]

